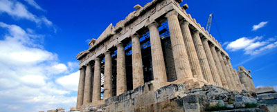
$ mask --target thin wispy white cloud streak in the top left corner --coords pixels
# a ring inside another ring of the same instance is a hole
[[[31,0],[27,0],[27,1],[31,1]],[[46,17],[39,18],[36,15],[33,15],[31,12],[27,10],[26,6],[24,6],[22,3],[18,1],[1,0],[0,14],[3,12],[6,12],[8,15],[12,17],[34,21],[37,24],[44,23],[47,26],[52,25],[52,22],[46,19]]]

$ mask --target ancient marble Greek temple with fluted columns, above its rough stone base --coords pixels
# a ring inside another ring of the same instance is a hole
[[[88,50],[76,57],[80,61],[78,109],[104,104],[107,98],[146,82],[153,90],[169,84],[255,89],[250,72],[243,66],[239,72],[233,68],[228,53],[181,2],[153,0],[143,7],[136,5],[124,20],[91,39]]]

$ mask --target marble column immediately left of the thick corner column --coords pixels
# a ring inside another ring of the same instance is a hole
[[[158,30],[159,24],[152,23],[148,26],[150,32],[152,69],[154,82],[166,83],[166,66],[163,59],[163,49],[161,48],[161,39]]]

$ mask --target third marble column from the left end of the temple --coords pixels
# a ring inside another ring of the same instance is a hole
[[[96,57],[94,62],[94,73],[93,73],[93,94],[92,103],[97,103],[101,97],[101,66],[100,58]]]

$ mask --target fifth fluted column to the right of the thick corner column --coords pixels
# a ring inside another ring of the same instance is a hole
[[[230,77],[229,77],[229,73],[228,73],[228,71],[227,71],[227,68],[226,68],[226,66],[225,66],[225,64],[224,64],[224,61],[223,61],[223,58],[222,58],[222,55],[221,55],[221,51],[220,51],[220,50],[217,50],[217,56],[218,56],[218,58],[220,59],[220,64],[221,64],[222,69],[223,69],[223,71],[224,71],[224,76],[226,77],[226,82],[227,82],[227,84],[228,84],[228,86],[229,86],[229,89],[233,90],[233,84],[232,84],[231,79],[230,79]]]

